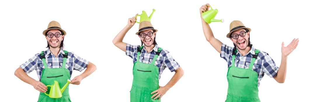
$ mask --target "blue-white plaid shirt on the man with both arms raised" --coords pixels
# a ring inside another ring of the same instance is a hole
[[[225,44],[221,46],[220,57],[225,59],[228,63],[228,68],[232,63],[232,51],[234,47],[229,47]],[[239,50],[236,54],[234,65],[239,68],[248,69],[248,66],[252,60],[253,55],[255,55],[255,49],[252,47],[248,54],[242,56],[239,53]],[[268,55],[268,53],[260,51],[258,53],[258,57],[255,60],[253,65],[253,71],[258,74],[258,87],[260,85],[260,80],[262,79],[264,73],[266,73],[269,77],[274,77],[277,74],[279,67],[277,67],[272,60],[272,58]]]

